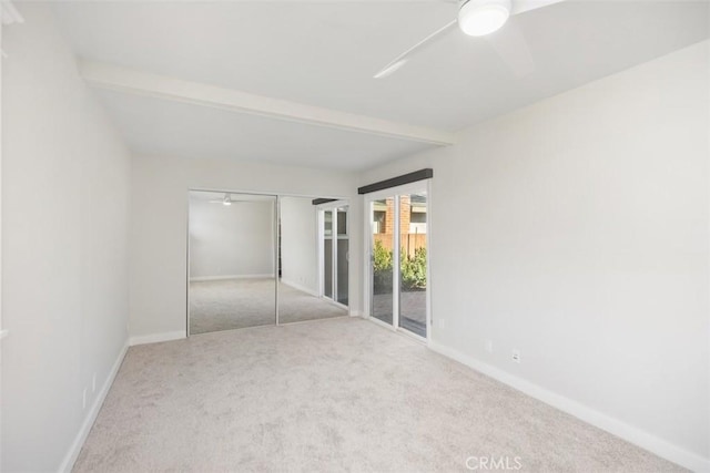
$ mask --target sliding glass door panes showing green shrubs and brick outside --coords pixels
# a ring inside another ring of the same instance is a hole
[[[415,183],[368,198],[371,317],[427,337],[426,183]]]

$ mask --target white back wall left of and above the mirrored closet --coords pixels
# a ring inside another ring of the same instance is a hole
[[[185,332],[190,188],[323,197],[355,192],[348,173],[140,155],[132,163],[131,337]],[[359,286],[351,291],[358,294]]]

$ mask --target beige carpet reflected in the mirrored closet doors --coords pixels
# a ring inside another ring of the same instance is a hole
[[[190,282],[190,333],[275,323],[274,279]],[[280,282],[280,323],[347,316],[347,310]]]

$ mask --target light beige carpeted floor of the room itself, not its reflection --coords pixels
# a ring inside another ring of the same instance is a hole
[[[363,319],[129,350],[75,472],[681,471]],[[480,470],[480,469],[479,469]]]

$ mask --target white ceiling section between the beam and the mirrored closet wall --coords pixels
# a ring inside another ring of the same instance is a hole
[[[97,91],[132,151],[356,171],[427,145]]]

